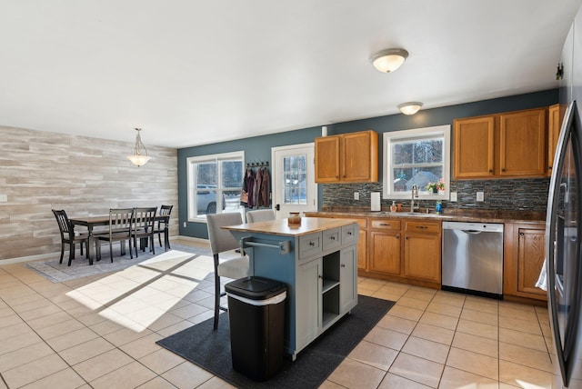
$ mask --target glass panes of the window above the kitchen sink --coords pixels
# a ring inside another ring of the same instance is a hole
[[[443,138],[407,139],[392,143],[392,192],[410,192],[412,185],[426,191],[426,184],[443,177]]]

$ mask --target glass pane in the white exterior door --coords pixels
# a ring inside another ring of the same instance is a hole
[[[307,204],[307,155],[286,156],[283,160],[285,204]]]

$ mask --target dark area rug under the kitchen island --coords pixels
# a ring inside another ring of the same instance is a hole
[[[168,336],[157,344],[237,388],[317,388],[392,305],[392,301],[358,295],[357,305],[351,314],[346,314],[297,354],[295,362],[285,359],[281,371],[265,382],[252,381],[233,369],[227,314],[220,315],[216,332],[213,331],[214,319],[211,318]]]

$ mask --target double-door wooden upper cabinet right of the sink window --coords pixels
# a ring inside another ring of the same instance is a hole
[[[546,108],[457,119],[454,131],[456,179],[546,175]]]

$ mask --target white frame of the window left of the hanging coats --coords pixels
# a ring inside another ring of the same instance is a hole
[[[216,163],[217,165],[217,175],[221,175],[220,161],[227,160],[227,159],[240,159],[241,163],[243,164],[243,175],[245,173],[245,152],[244,151],[236,151],[231,153],[221,153],[221,154],[213,154],[213,155],[199,155],[199,156],[190,156],[186,158],[186,166],[187,166],[187,194],[188,194],[188,222],[198,222],[198,223],[206,223],[206,214],[198,215],[197,207],[196,207],[196,175],[195,169],[196,164],[200,163]],[[242,189],[243,185],[243,176],[240,177],[240,185]],[[222,180],[218,177],[216,178],[216,194],[222,193],[227,188],[222,188]],[[222,213],[222,196],[216,195],[216,214]],[[242,213],[242,212],[241,212]]]

